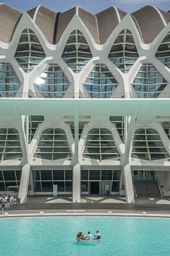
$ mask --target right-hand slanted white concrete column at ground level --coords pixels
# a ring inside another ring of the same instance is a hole
[[[123,166],[123,176],[125,180],[126,201],[127,203],[135,203],[130,164]]]

